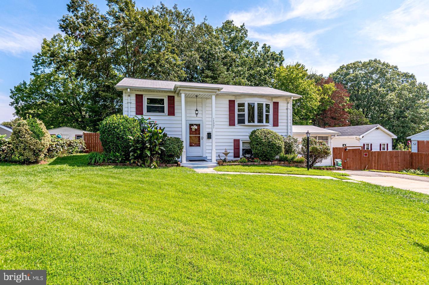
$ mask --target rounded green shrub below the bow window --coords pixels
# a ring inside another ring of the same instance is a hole
[[[250,135],[250,148],[254,157],[272,161],[284,152],[283,137],[270,129],[254,129]]]

